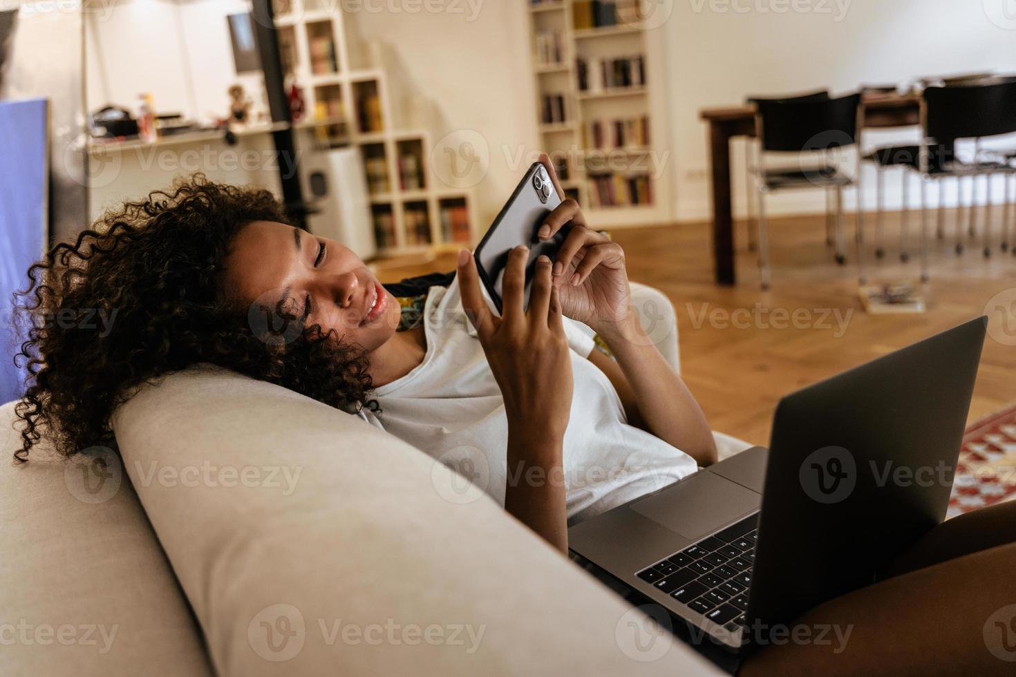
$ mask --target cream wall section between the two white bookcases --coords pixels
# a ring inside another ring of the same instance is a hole
[[[350,60],[354,67],[372,66],[371,54],[390,53],[383,65],[393,108],[399,99],[406,106],[414,98],[432,101],[435,143],[455,132],[479,138],[475,132],[484,139],[490,168],[473,187],[483,229],[539,151],[527,0],[480,0],[475,13],[465,0],[444,6],[449,10],[347,11]],[[372,43],[384,49],[372,49]]]

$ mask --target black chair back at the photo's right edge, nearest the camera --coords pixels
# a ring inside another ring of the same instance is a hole
[[[1016,132],[1016,81],[925,89],[925,133],[940,143]]]

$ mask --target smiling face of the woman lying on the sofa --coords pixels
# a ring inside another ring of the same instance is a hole
[[[253,221],[226,259],[229,290],[245,302],[274,309],[279,301],[307,326],[334,329],[368,352],[398,327],[398,301],[364,262],[338,243],[284,223]]]

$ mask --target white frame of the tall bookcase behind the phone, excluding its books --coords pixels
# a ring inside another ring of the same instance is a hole
[[[644,30],[637,22],[626,23],[619,17],[615,25],[576,27],[576,8],[581,0],[521,0],[529,14],[532,82],[535,88],[536,120],[544,148],[552,157],[568,161],[568,179],[563,187],[582,205],[596,225],[624,227],[647,225],[671,220],[671,155],[666,142],[666,82],[662,78],[663,46],[660,31]],[[624,4],[626,0],[620,0]],[[632,0],[637,1],[637,0]],[[539,41],[544,31],[558,31],[562,54],[559,62],[541,58]],[[580,90],[578,59],[597,60],[641,56],[645,78],[642,84],[629,87]],[[565,121],[544,120],[545,94],[563,94]],[[592,146],[586,123],[645,116],[649,143],[612,147],[610,139],[602,148]],[[595,190],[592,177],[618,176],[626,182],[647,176],[650,200],[631,204],[627,184],[616,185],[616,195],[624,195],[624,204],[591,206]]]

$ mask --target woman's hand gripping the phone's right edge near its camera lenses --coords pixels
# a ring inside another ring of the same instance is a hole
[[[550,157],[539,161],[559,195],[564,195]],[[585,215],[575,200],[568,199],[551,212],[536,231],[541,241],[550,240],[569,221],[572,229],[558,251],[554,268],[554,287],[561,298],[562,312],[582,322],[605,338],[620,335],[631,322],[631,290],[621,246],[588,227]]]

